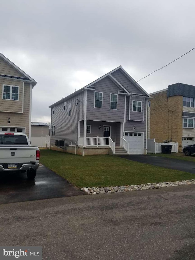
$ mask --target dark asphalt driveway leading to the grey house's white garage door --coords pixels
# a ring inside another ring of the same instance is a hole
[[[151,155],[128,155],[128,156],[120,156],[120,157],[132,161],[136,161],[136,162],[143,162],[155,166],[161,166],[168,169],[175,169],[175,170],[180,170],[188,173],[195,173],[195,163],[190,161],[159,157],[159,156],[151,156]]]

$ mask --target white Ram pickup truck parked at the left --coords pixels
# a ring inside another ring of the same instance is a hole
[[[30,145],[26,134],[0,133],[0,173],[27,171],[27,178],[33,180],[39,158],[39,148]]]

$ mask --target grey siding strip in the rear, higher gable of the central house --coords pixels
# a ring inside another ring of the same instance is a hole
[[[122,84],[130,93],[143,94],[120,70],[117,70],[111,74],[116,80]]]

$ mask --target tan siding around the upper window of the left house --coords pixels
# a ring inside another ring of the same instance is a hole
[[[13,85],[19,87],[19,100],[2,99],[3,85]],[[23,82],[0,78],[0,111],[22,113],[23,106]]]

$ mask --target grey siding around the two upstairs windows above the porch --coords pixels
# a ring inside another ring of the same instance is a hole
[[[93,84],[95,91],[103,92],[102,109],[94,108],[94,91],[87,90],[87,120],[124,122],[125,96],[119,95],[119,88],[108,77]],[[118,94],[117,110],[110,109],[110,94]]]

